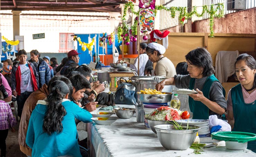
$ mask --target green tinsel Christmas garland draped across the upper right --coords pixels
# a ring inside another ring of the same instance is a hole
[[[214,5],[217,5],[216,9],[214,9]],[[207,12],[210,15],[210,37],[214,37],[214,17],[221,18],[224,17],[224,3],[217,3],[217,4],[211,4],[210,9],[208,8],[207,5],[202,6],[203,10],[201,13],[198,13],[196,11],[196,6],[193,7],[193,10],[191,12],[187,12],[187,7],[165,7],[165,6],[156,6],[154,11],[155,15],[157,13],[157,10],[166,10],[171,12],[171,17],[174,18],[176,16],[176,11],[179,11],[179,21],[182,25],[184,25],[184,20],[191,18],[193,15],[197,17],[203,17],[204,13]],[[131,10],[132,13],[135,15],[139,15],[139,11],[136,12],[134,10],[134,4],[132,2],[127,2],[124,6],[124,12],[122,16],[122,22],[126,21],[126,14],[128,9]]]

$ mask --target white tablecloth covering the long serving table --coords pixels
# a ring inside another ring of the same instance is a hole
[[[111,117],[117,118],[116,115]],[[194,154],[194,149],[190,148],[166,150],[152,130],[145,129],[144,123],[136,122],[135,115],[130,119],[117,118],[109,126],[88,123],[88,140],[97,157],[256,157],[248,149],[229,150],[226,147],[205,148],[202,154]]]

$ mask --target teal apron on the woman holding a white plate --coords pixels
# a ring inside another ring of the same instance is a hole
[[[205,98],[209,99],[209,93],[211,89],[211,85],[214,81],[218,81],[216,77],[212,74],[211,76],[207,77],[207,79],[204,82],[203,89],[201,90],[203,92],[203,95]],[[189,80],[189,89],[193,90],[195,85],[195,78],[191,78]],[[225,95],[225,90],[222,87],[223,95]],[[193,112],[193,119],[209,119],[209,108],[203,104],[201,101],[195,101],[193,98],[189,96],[189,108],[190,111]]]

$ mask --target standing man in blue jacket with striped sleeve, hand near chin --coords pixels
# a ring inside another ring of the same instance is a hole
[[[35,65],[37,73],[39,75],[39,85],[38,87],[42,87],[44,84],[48,84],[51,79],[50,68],[48,64],[39,57],[38,50],[31,50],[30,51],[30,60]]]

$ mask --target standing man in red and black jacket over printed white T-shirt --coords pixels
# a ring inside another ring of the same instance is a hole
[[[17,96],[18,116],[21,117],[22,109],[28,96],[38,89],[38,74],[36,67],[27,62],[27,53],[24,49],[19,50],[20,62],[11,70],[11,89]]]

